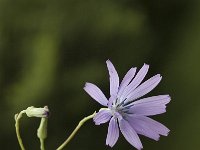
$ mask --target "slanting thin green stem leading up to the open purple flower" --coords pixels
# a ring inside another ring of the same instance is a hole
[[[89,119],[92,119],[95,116],[96,112],[94,112],[92,115],[89,115],[85,118],[83,118],[79,124],[77,125],[77,127],[74,129],[74,131],[70,134],[70,136],[64,141],[64,143],[62,145],[60,145],[56,150],[62,150],[70,141],[71,139],[74,137],[74,135],[77,133],[77,131],[80,129],[80,127]]]

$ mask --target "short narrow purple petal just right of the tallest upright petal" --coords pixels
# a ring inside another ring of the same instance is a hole
[[[119,87],[119,92],[118,92],[118,98],[121,97],[122,92],[124,91],[124,89],[128,86],[128,84],[131,82],[131,80],[133,79],[133,77],[135,76],[136,73],[136,68],[131,68],[126,75],[124,76],[120,87]]]

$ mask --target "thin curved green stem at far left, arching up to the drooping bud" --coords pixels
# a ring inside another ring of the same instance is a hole
[[[16,128],[16,134],[17,134],[17,139],[19,142],[19,146],[21,148],[21,150],[25,150],[23,142],[22,142],[22,138],[20,136],[20,131],[19,131],[19,120],[22,117],[22,114],[25,113],[25,110],[21,111],[19,114],[15,115],[15,128]]]

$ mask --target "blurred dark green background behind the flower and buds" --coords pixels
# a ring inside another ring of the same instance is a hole
[[[55,149],[78,121],[101,107],[83,90],[86,81],[109,95],[105,61],[122,78],[150,64],[161,73],[149,95],[170,94],[167,113],[153,117],[170,128],[146,150],[200,148],[200,1],[0,0],[0,149],[19,149],[14,114],[48,105],[47,149]],[[25,147],[39,149],[37,118],[21,120]],[[84,125],[66,149],[110,150],[107,124]],[[113,150],[134,149],[120,136]]]

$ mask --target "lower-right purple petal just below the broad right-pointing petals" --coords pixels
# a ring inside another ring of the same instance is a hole
[[[169,134],[169,129],[165,127],[163,124],[145,116],[137,116],[134,117],[134,122],[136,124],[143,124],[144,126],[148,126],[152,131],[156,132],[157,134],[167,136]],[[133,125],[134,126],[134,125]]]

